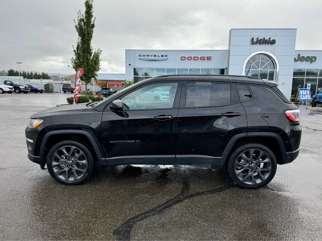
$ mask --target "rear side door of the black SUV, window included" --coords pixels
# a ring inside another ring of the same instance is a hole
[[[185,82],[177,126],[177,162],[221,162],[229,140],[247,132],[246,112],[235,84]]]

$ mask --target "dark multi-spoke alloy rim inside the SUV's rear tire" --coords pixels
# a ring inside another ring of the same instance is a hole
[[[238,155],[234,163],[237,178],[248,185],[258,185],[271,174],[272,160],[260,149],[248,149]]]

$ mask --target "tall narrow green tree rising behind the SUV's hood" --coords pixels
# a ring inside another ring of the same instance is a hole
[[[85,82],[85,91],[87,94],[87,84],[94,78],[97,80],[97,72],[100,70],[101,49],[93,50],[91,46],[93,32],[95,27],[95,18],[93,19],[93,0],[85,1],[85,14],[81,11],[77,13],[77,23],[74,20],[75,29],[78,34],[76,48],[73,47],[74,57],[71,65],[75,69],[84,69],[81,79]]]

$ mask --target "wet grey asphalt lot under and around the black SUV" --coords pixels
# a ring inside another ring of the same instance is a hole
[[[64,186],[27,158],[24,129],[71,94],[0,95],[0,239],[322,239],[322,108],[301,108],[298,158],[266,187],[201,166],[97,168]]]

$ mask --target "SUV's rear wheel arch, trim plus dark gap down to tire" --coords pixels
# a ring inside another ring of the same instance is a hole
[[[241,133],[231,138],[222,153],[224,162],[228,161],[229,156],[236,148],[249,143],[267,146],[274,153],[277,164],[283,163],[283,154],[286,152],[286,149],[282,138],[276,133],[266,132]]]

